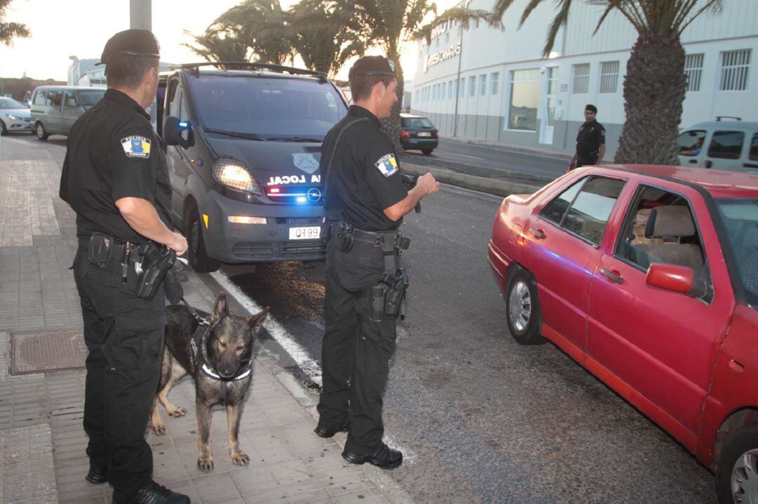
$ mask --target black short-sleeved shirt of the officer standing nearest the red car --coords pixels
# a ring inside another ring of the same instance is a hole
[[[400,178],[392,140],[374,114],[350,106],[324,138],[319,170],[328,219],[342,219],[365,231],[399,227],[402,219],[390,221],[384,209],[405,199],[408,192]]]

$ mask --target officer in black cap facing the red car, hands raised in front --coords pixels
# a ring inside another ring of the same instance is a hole
[[[393,142],[379,119],[397,101],[390,61],[367,56],[349,72],[355,105],[324,139],[321,180],[332,236],[327,246],[326,330],[321,348],[323,390],[315,433],[348,430],[343,458],[396,468],[402,453],[382,442],[382,393],[395,351],[396,318],[371,304],[385,271],[396,273],[399,226],[427,194],[439,190],[431,174],[410,191],[402,183]],[[352,247],[346,246],[352,242]],[[407,245],[406,245],[407,246]]]

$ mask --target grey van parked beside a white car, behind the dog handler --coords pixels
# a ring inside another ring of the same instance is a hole
[[[105,88],[39,86],[32,97],[32,129],[37,138],[67,135],[79,116],[100,101]]]

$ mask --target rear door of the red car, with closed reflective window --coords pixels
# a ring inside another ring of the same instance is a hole
[[[538,207],[525,229],[543,324],[582,350],[600,240],[624,184],[617,178],[584,177]]]

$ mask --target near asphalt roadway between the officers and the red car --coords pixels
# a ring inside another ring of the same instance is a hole
[[[64,139],[30,137],[39,146],[61,158]],[[713,475],[672,437],[556,346],[509,336],[486,258],[499,202],[443,186],[406,218],[412,286],[384,397],[406,463],[391,476],[415,502],[716,502]],[[318,364],[318,265],[222,269]],[[258,351],[307,382],[270,336]]]

